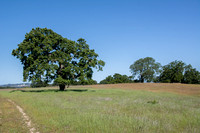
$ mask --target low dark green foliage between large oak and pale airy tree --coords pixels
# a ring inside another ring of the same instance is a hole
[[[100,81],[100,84],[116,84],[116,83],[131,83],[133,82],[132,76],[121,75],[115,73],[113,77],[109,75],[106,79]]]

